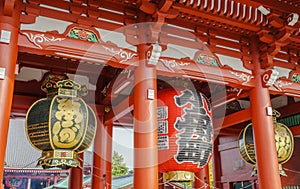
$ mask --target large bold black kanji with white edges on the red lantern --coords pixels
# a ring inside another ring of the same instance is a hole
[[[174,127],[180,131],[175,159],[178,163],[193,162],[204,166],[212,153],[212,120],[208,111],[208,100],[201,93],[184,90],[174,96],[175,104],[183,108],[183,115],[177,117]]]

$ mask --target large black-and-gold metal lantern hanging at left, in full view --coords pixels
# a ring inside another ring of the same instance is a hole
[[[36,101],[27,112],[26,134],[42,151],[38,166],[81,167],[78,153],[89,148],[95,136],[96,116],[81,98],[81,85],[49,75],[42,90],[47,98]]]

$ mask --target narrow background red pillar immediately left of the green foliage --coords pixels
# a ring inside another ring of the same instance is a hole
[[[106,189],[111,189],[112,184],[112,144],[113,125],[105,125],[106,132]]]

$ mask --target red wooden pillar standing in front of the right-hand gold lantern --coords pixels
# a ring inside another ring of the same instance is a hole
[[[270,95],[268,88],[262,86],[263,70],[260,66],[256,38],[251,40],[251,49],[255,87],[250,91],[250,103],[259,188],[281,189],[273,119],[266,113],[266,108],[271,107]]]

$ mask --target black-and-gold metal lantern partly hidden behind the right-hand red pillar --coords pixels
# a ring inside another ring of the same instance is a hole
[[[282,123],[277,122],[280,113],[273,110],[274,119],[274,134],[275,145],[277,150],[277,158],[279,164],[279,172],[282,176],[287,176],[282,169],[282,164],[286,163],[292,156],[294,151],[294,138],[290,129]],[[256,175],[256,157],[255,146],[253,139],[252,123],[248,124],[239,135],[239,152],[243,160],[249,164],[254,165],[252,176]]]

